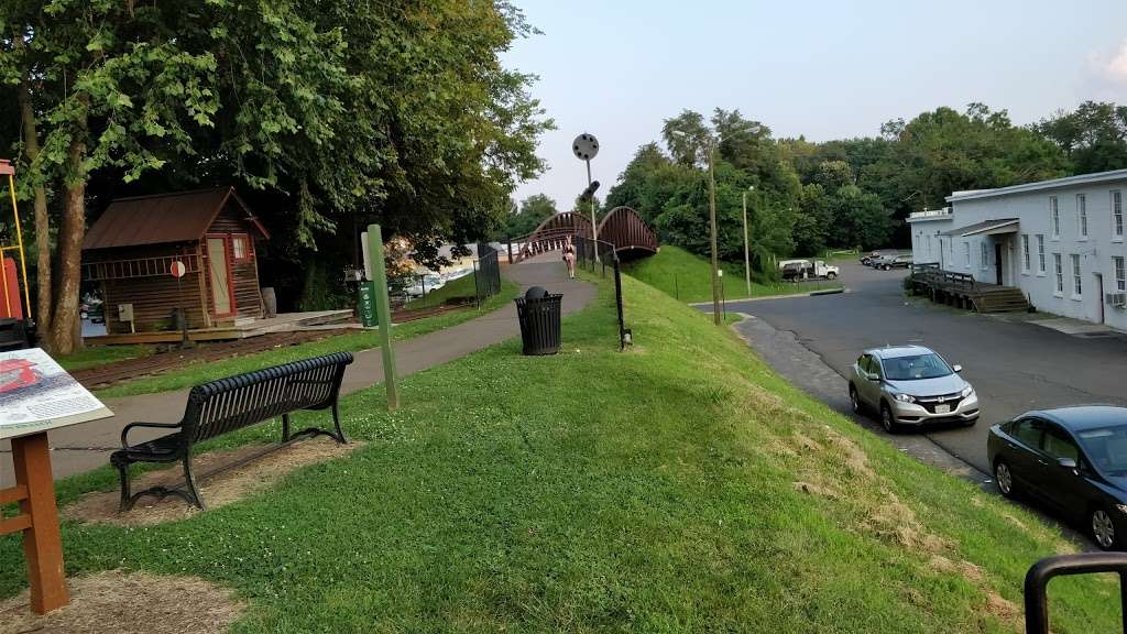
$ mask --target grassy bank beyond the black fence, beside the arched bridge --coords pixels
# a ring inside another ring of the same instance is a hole
[[[711,264],[681,247],[663,246],[657,255],[630,263],[623,268],[633,278],[665,291],[684,302],[711,301]],[[721,262],[724,291],[728,301],[747,297],[743,263]],[[761,284],[752,281],[752,297],[796,294],[822,289],[841,288],[841,282],[816,281],[801,284]]]

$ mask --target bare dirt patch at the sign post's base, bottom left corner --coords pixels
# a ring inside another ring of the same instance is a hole
[[[206,634],[227,631],[246,609],[195,576],[109,571],[68,587],[70,605],[44,616],[32,613],[26,590],[0,601],[0,634]]]

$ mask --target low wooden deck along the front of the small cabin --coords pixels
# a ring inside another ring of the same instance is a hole
[[[192,328],[188,340],[194,342],[231,341],[256,337],[268,333],[290,333],[296,331],[316,331],[327,327],[348,328],[353,319],[352,309],[317,310],[311,312],[284,312],[276,317],[264,319],[245,318],[219,324],[211,328]],[[356,327],[360,327],[356,324]],[[87,345],[122,345],[139,343],[178,343],[181,334],[178,331],[160,331],[149,333],[126,333],[86,337]]]

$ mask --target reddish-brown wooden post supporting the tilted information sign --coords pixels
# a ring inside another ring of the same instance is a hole
[[[0,535],[24,532],[32,611],[46,614],[70,602],[47,432],[11,439],[11,457],[16,486],[0,490],[0,503],[19,502],[20,514],[0,520]]]

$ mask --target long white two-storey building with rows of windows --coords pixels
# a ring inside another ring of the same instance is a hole
[[[1038,310],[1127,329],[1127,169],[956,192],[913,213],[912,255],[1017,287]]]

